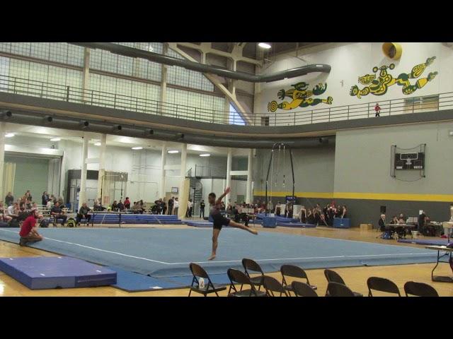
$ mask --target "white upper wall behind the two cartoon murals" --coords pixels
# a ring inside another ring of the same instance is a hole
[[[272,117],[270,119],[271,123],[275,118],[277,124],[285,124],[281,122],[282,118],[292,116],[294,112],[328,109],[329,107],[343,105],[367,104],[368,102],[372,112],[376,102],[382,104],[385,100],[407,99],[409,97],[436,95],[453,91],[453,82],[451,81],[453,75],[451,67],[453,62],[452,47],[440,42],[401,42],[400,44],[403,53],[401,59],[396,61],[384,55],[382,42],[328,43],[299,49],[297,57],[294,51],[279,54],[275,58],[271,57],[270,59],[273,59],[273,62],[266,64],[262,73],[274,73],[307,64],[328,64],[331,65],[331,72],[309,73],[299,78],[257,85],[254,112],[268,113]],[[394,69],[387,69],[387,71],[394,78],[398,78],[400,74],[410,74],[414,66],[424,64],[429,57],[436,57],[436,59],[432,61],[430,66],[426,67],[417,79],[410,79],[410,82],[414,85],[418,79],[426,78],[431,72],[438,72],[437,76],[426,83],[423,88],[415,90],[412,94],[403,94],[403,86],[395,84],[391,85],[383,95],[369,94],[361,98],[350,95],[352,86],[357,85],[360,89],[365,87],[365,85],[359,83],[359,77],[375,75],[376,78],[379,78],[379,71],[377,73],[373,71],[374,66],[381,67],[394,64]],[[289,90],[293,88],[292,85],[302,81],[309,84],[307,90],[312,90],[319,83],[322,85],[327,84],[325,92],[320,95],[314,95],[312,98],[327,99],[331,97],[331,104],[319,103],[318,105],[296,107],[291,110],[277,109],[276,112],[268,111],[268,104],[273,100],[277,103],[282,101],[291,102],[292,98],[285,97],[285,100],[282,100],[277,93],[279,90]],[[387,107],[382,107],[383,113]],[[346,116],[347,113],[338,116],[338,119],[344,119]]]

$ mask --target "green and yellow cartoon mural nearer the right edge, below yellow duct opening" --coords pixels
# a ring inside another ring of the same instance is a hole
[[[379,76],[376,74],[366,74],[365,76],[359,77],[359,83],[365,85],[361,90],[357,85],[353,85],[350,90],[350,95],[357,96],[359,99],[365,95],[384,95],[387,93],[387,89],[392,85],[403,86],[403,94],[412,94],[415,90],[423,88],[429,81],[437,76],[437,72],[430,72],[426,78],[419,78],[414,85],[411,84],[411,79],[416,79],[422,75],[423,71],[432,64],[436,57],[431,57],[426,59],[425,63],[414,66],[411,73],[401,73],[399,76],[394,78],[389,74],[388,70],[395,68],[395,64],[390,64],[389,66],[375,66],[373,72],[377,73],[379,71]]]

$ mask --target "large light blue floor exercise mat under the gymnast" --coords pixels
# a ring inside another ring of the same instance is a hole
[[[212,246],[209,228],[46,228],[40,232],[45,239],[32,245],[37,249],[154,278],[190,275],[190,262],[199,263],[210,275],[224,274],[228,268],[242,269],[242,258],[258,261],[265,272],[276,272],[284,263],[310,269],[434,263],[437,258],[435,251],[412,246],[278,232],[253,235],[225,227],[217,258],[207,261]],[[0,239],[17,244],[18,238],[18,229],[0,228]]]

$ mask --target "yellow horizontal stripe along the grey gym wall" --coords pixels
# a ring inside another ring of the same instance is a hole
[[[253,192],[255,196],[265,196],[265,191]],[[290,196],[292,192],[272,192],[273,196]],[[359,193],[359,192],[295,192],[302,198],[396,200],[396,201],[439,201],[453,202],[453,194],[399,194],[399,193]]]

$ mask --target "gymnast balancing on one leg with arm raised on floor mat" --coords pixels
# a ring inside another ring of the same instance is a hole
[[[208,196],[208,201],[210,203],[210,217],[209,220],[212,221],[212,254],[207,260],[212,260],[216,256],[217,251],[217,238],[219,237],[220,230],[222,230],[222,226],[231,226],[241,228],[242,230],[246,230],[251,232],[252,234],[258,234],[256,230],[252,228],[246,227],[239,222],[234,222],[233,220],[229,220],[229,218],[225,218],[222,214],[220,214],[220,206],[222,205],[222,199],[226,194],[229,194],[231,189],[227,187],[224,191],[222,196],[216,200],[215,193],[210,193]]]

